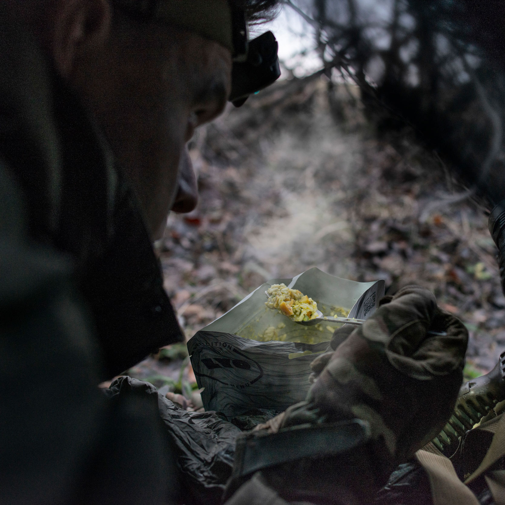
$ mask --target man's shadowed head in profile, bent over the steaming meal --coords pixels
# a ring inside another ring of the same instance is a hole
[[[88,104],[137,193],[151,236],[159,237],[171,209],[189,212],[196,205],[185,145],[224,109],[230,48],[170,23],[132,18],[112,0],[11,2]],[[258,20],[275,3],[243,0],[238,7]]]

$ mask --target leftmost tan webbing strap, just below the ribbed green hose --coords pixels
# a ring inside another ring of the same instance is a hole
[[[416,452],[416,458],[430,479],[434,505],[479,505],[472,491],[458,478],[448,458],[422,449]]]

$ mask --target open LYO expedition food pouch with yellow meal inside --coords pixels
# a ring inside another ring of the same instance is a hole
[[[310,363],[326,351],[338,325],[301,326],[267,309],[265,291],[280,283],[313,298],[325,316],[357,319],[375,312],[385,285],[340,279],[318,268],[262,284],[188,342],[206,410],[231,419],[252,409],[282,412],[305,399]]]

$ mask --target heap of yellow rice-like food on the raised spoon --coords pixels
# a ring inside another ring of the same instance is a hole
[[[310,321],[317,318],[317,304],[298,289],[288,288],[285,284],[273,284],[267,291],[269,309],[277,309],[292,321]]]

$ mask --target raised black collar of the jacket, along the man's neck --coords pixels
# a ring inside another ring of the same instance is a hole
[[[103,377],[112,377],[183,337],[110,150],[43,58],[19,45],[2,42],[0,153],[20,190],[25,237],[72,263],[96,325]]]

